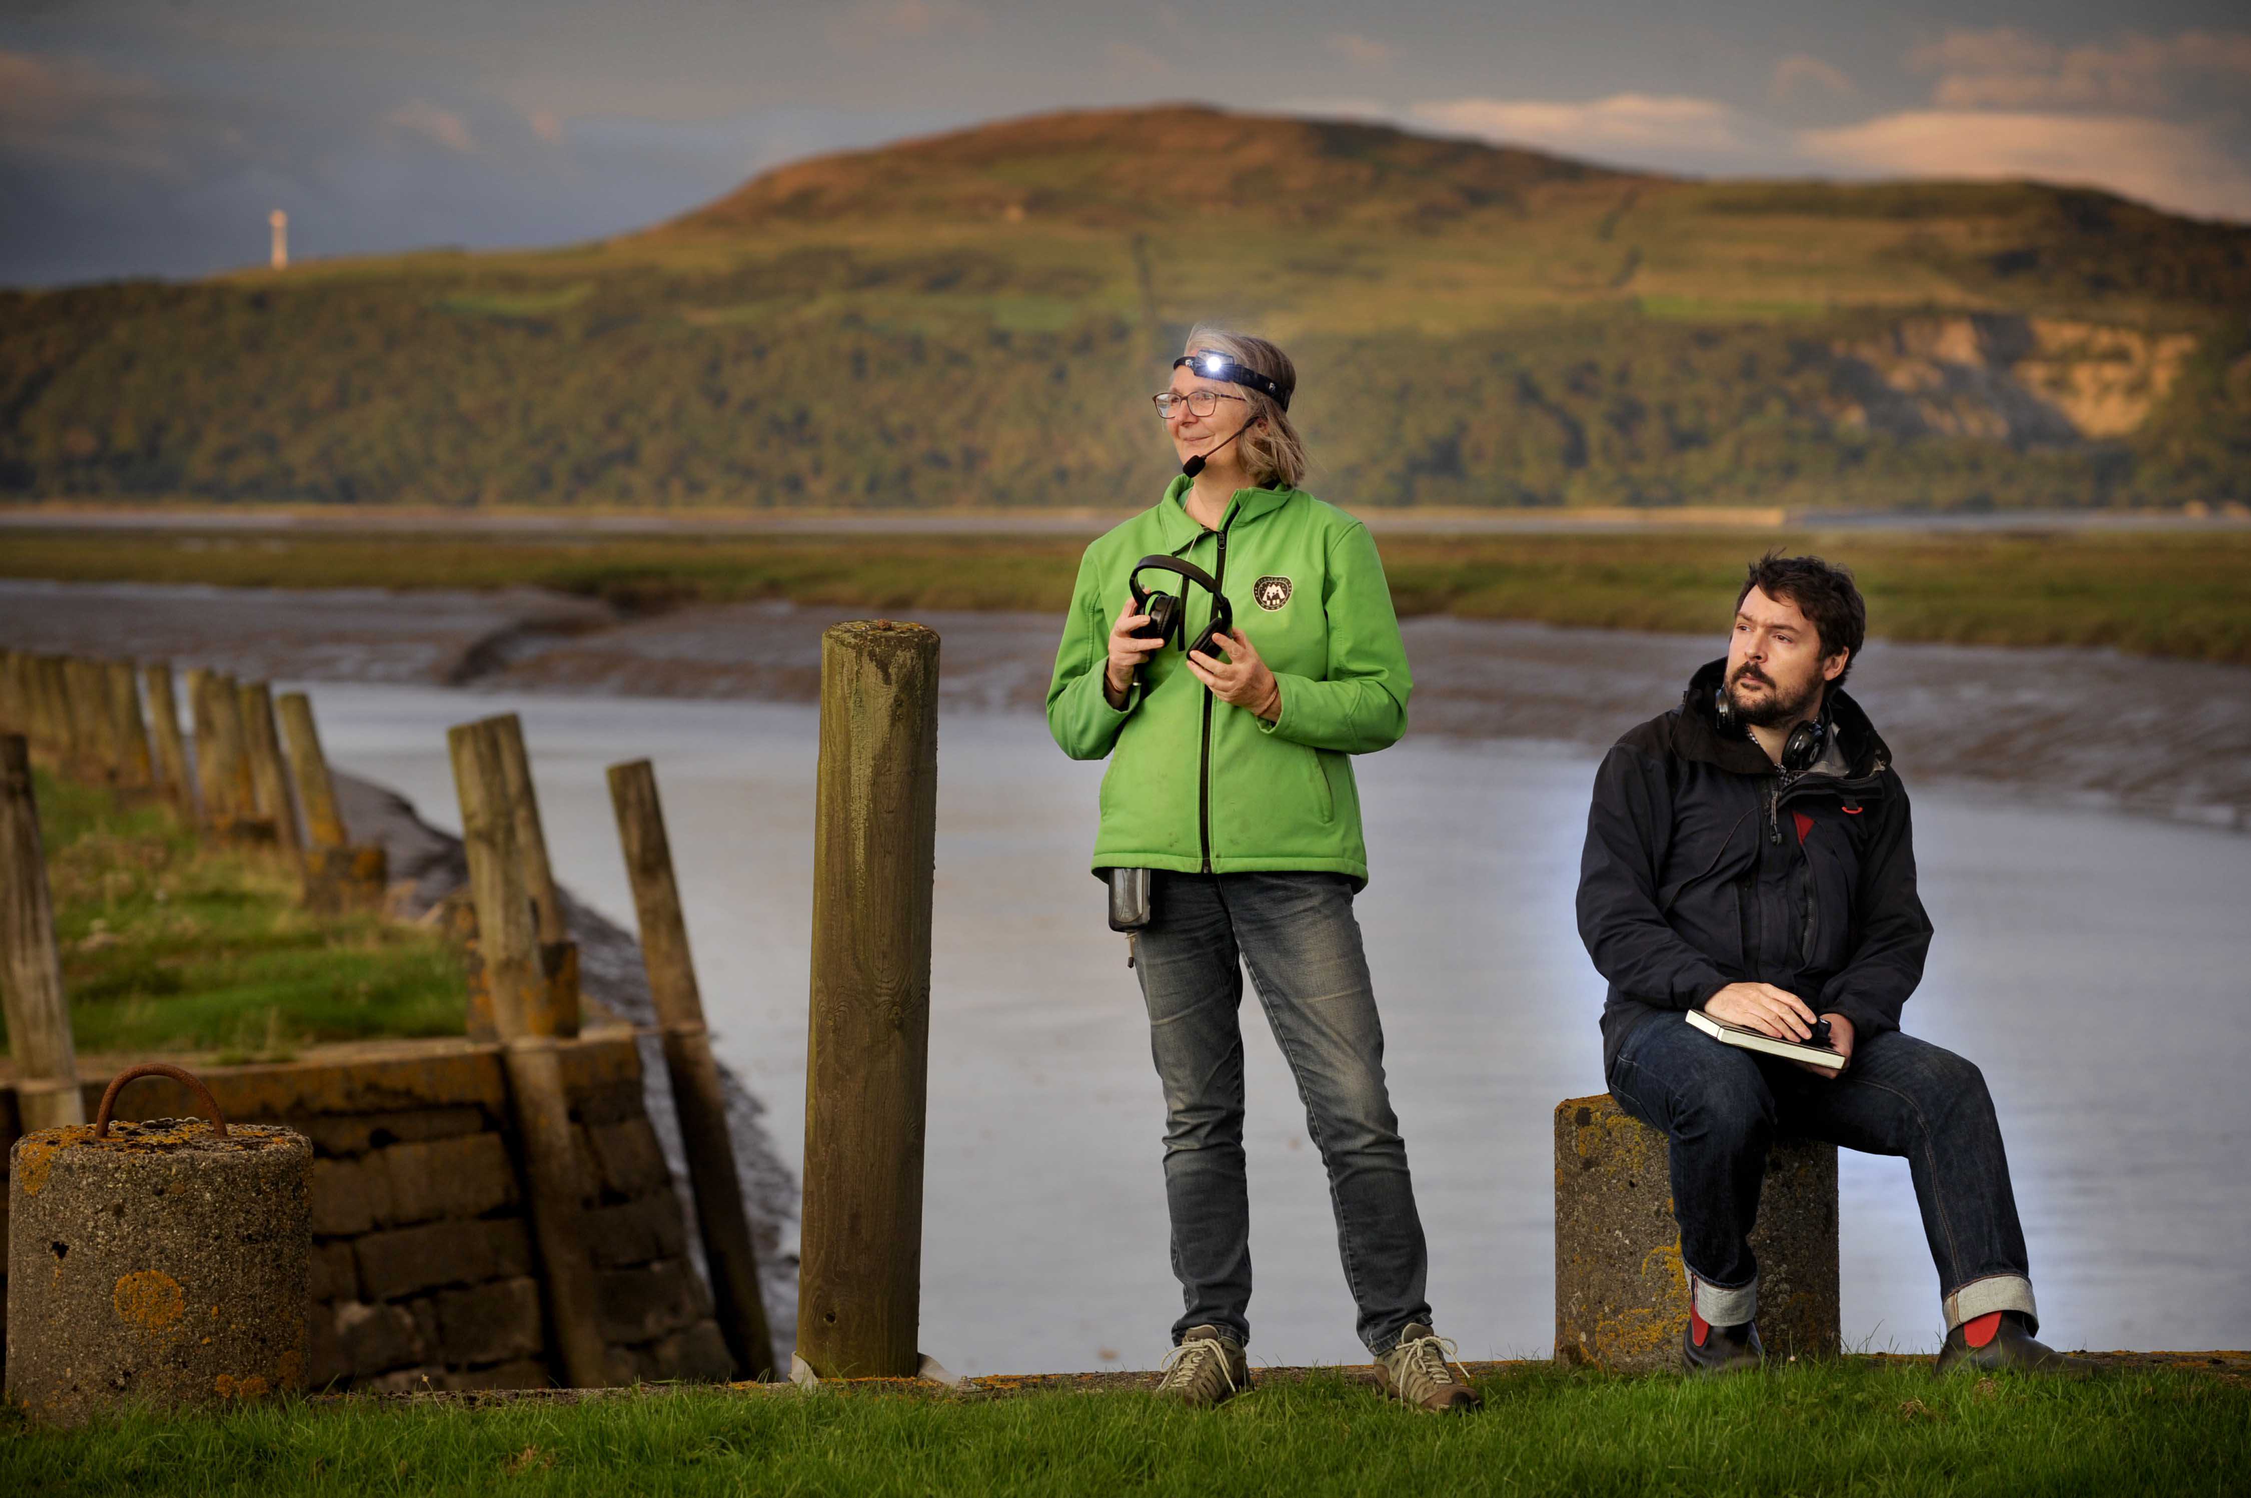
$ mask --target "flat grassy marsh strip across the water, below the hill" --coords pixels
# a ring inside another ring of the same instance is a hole
[[[2251,665],[2251,534],[1654,534],[1396,536],[1400,613],[1598,628],[1713,631],[1769,545],[1853,565],[1875,635],[2098,644]],[[792,599],[808,606],[1065,606],[1080,543],[918,538],[140,536],[18,532],[0,574],[232,588],[536,586],[626,608]],[[1119,579],[1123,595],[1123,579]]]

